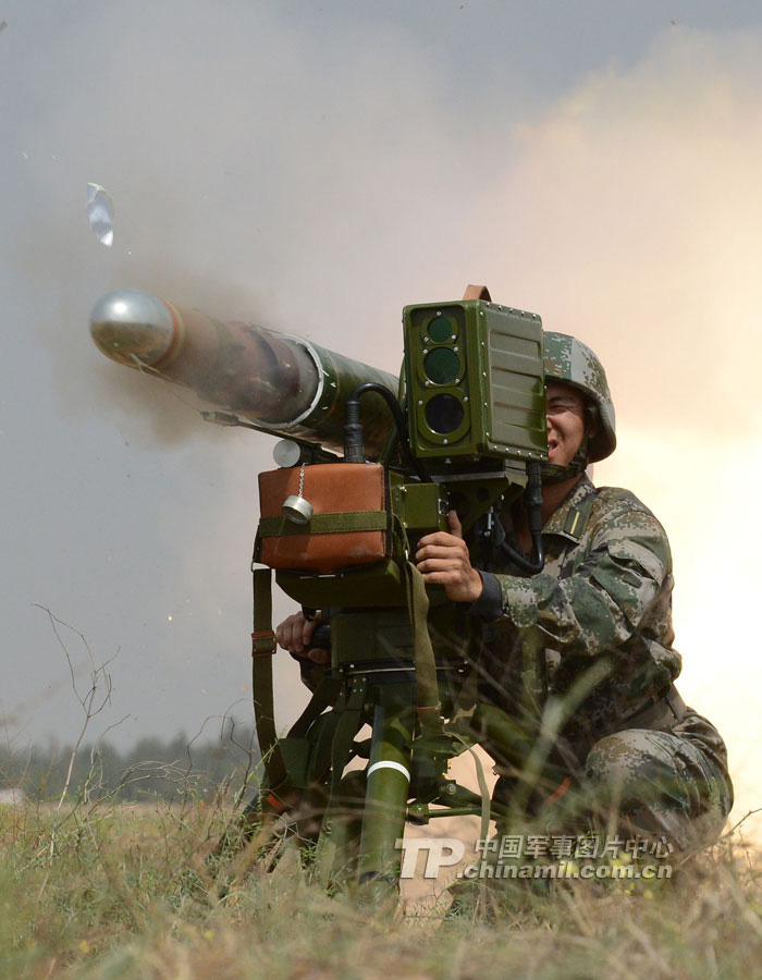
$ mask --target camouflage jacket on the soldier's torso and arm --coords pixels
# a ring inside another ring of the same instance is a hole
[[[511,540],[509,514],[501,520]],[[539,575],[508,558],[481,563],[484,593],[469,610],[488,624],[479,693],[527,723],[554,696],[568,716],[565,740],[579,757],[665,694],[680,672],[672,647],[672,556],[661,524],[632,493],[597,489],[587,476],[542,537]]]

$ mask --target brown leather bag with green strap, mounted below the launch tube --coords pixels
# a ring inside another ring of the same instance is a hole
[[[379,463],[305,466],[302,495],[312,505],[305,525],[283,516],[299,491],[299,466],[259,474],[261,518],[256,559],[279,572],[332,575],[391,556],[389,481]]]

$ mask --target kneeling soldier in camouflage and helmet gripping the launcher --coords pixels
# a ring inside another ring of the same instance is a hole
[[[536,733],[548,725],[548,705],[560,707],[545,770],[551,783],[532,787],[537,816],[570,788],[582,822],[598,817],[611,829],[614,811],[614,825],[628,836],[665,837],[683,850],[704,846],[722,830],[733,787],[720,734],[674,687],[681,660],[672,646],[666,535],[632,493],[595,488],[585,474],[616,445],[595,354],[545,332],[545,377],[542,573],[529,576],[495,547],[476,568],[454,512],[450,534],[421,539],[418,567],[484,623],[481,700]],[[504,510],[496,527],[530,551],[520,504]],[[495,798],[509,801],[520,779],[502,767]]]

